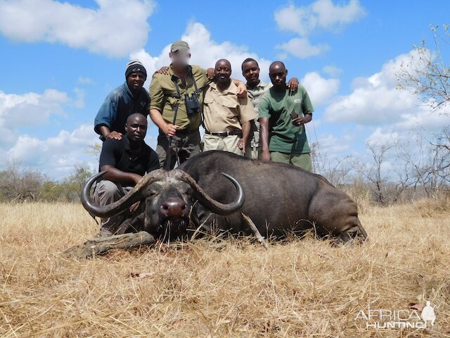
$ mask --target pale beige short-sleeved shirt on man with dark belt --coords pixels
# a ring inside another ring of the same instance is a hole
[[[205,92],[203,115],[205,129],[209,132],[231,132],[242,130],[241,125],[257,117],[252,99],[237,96],[238,87],[231,81],[230,86],[220,92],[217,84],[210,83]]]

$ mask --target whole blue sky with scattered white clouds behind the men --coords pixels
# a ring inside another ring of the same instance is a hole
[[[309,142],[332,159],[370,161],[367,143],[427,139],[450,125],[450,108],[432,112],[395,76],[414,45],[433,46],[430,25],[449,23],[448,13],[444,0],[0,0],[0,170],[15,161],[55,180],[75,165],[96,170],[94,118],[127,61],[151,75],[178,39],[191,64],[227,58],[239,80],[245,58],[266,82],[269,64],[283,61],[314,106]]]

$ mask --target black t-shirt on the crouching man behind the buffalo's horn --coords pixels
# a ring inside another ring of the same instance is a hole
[[[125,134],[122,139],[106,139],[100,154],[99,168],[103,165],[112,165],[125,173],[145,175],[160,168],[160,161],[156,151],[145,142],[139,153],[131,152],[129,139]],[[132,182],[123,182],[124,187],[132,186]]]

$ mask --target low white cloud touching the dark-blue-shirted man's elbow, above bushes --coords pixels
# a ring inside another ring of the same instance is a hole
[[[98,142],[97,136],[92,125],[80,125],[72,132],[61,130],[56,137],[42,140],[24,134],[7,151],[6,158],[59,179],[70,175],[76,164],[96,168],[96,160],[87,149]]]

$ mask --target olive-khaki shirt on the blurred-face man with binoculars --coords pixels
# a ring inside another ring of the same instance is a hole
[[[188,65],[188,72],[193,74],[195,83],[197,84],[200,95],[198,101],[200,106],[203,102],[202,89],[210,82],[206,75],[206,70],[198,65]],[[189,97],[195,92],[192,77],[186,77],[186,85],[181,82],[180,78],[174,75],[172,65],[167,70],[168,75],[155,74],[150,83],[150,109],[156,109],[162,115],[166,123],[174,122],[174,106],[178,104],[178,112],[176,113],[176,125],[179,125],[180,130],[188,129],[195,130],[200,126],[202,121],[201,114],[195,113],[188,115],[186,113],[186,104],[184,102],[184,94],[189,94]],[[179,86],[181,98],[176,92],[174,80]]]

